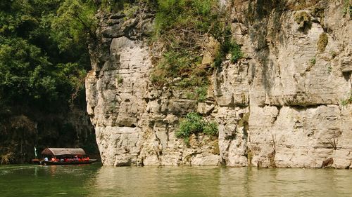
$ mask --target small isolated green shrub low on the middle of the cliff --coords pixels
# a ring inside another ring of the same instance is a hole
[[[209,122],[202,118],[197,113],[191,112],[187,114],[184,121],[180,123],[180,130],[176,133],[176,137],[184,139],[184,142],[189,142],[189,136],[192,134],[203,133],[205,135],[217,136],[218,124]]]

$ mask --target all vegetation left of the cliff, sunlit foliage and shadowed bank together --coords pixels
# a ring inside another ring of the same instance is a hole
[[[0,163],[29,161],[34,145],[96,147],[69,119],[86,107],[95,11],[94,0],[0,1]]]

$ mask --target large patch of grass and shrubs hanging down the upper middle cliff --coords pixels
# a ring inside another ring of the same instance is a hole
[[[228,53],[232,62],[237,62],[243,54],[232,40],[225,20],[218,0],[159,0],[152,40],[163,43],[163,52],[151,74],[152,83],[180,88],[207,86],[213,67],[201,61],[206,38],[210,36],[220,43],[220,51],[215,55],[216,66]],[[176,77],[182,78],[181,83],[172,83]]]

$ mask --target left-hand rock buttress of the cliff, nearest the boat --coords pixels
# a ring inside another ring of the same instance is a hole
[[[143,32],[148,15],[125,20],[108,15],[92,46],[93,70],[86,80],[87,111],[104,165],[218,165],[218,140],[175,137],[180,118],[196,109],[187,92],[151,86],[151,50]],[[133,22],[132,22],[133,21]]]

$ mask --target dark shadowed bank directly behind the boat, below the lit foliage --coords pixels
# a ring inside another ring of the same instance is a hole
[[[0,164],[30,163],[46,147],[82,147],[99,158],[95,133],[87,112],[69,109],[48,112],[30,107],[0,110]]]

